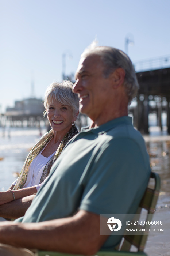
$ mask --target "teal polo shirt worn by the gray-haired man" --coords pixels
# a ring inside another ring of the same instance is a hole
[[[145,142],[131,117],[84,129],[66,145],[22,222],[64,218],[79,209],[135,213],[149,176]],[[119,240],[110,236],[103,248],[114,247]]]

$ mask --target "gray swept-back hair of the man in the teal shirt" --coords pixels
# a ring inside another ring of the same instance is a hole
[[[136,78],[134,66],[130,58],[123,51],[109,47],[109,46],[96,46],[95,42],[84,50],[81,54],[81,58],[86,58],[89,55],[99,55],[104,65],[104,78],[108,78],[109,75],[117,68],[123,68],[125,71],[124,87],[129,98],[129,104],[132,99],[135,98],[139,84]]]

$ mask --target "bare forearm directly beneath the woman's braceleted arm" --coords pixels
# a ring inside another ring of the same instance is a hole
[[[34,197],[35,195],[31,195],[1,205],[0,217],[7,219],[17,219],[19,217],[24,216],[25,212],[30,207]]]

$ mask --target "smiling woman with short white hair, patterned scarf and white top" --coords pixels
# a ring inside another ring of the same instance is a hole
[[[65,80],[47,88],[44,106],[52,129],[32,148],[18,179],[8,191],[0,192],[0,205],[36,194],[67,142],[78,133],[74,121],[79,99],[72,87],[73,84]]]

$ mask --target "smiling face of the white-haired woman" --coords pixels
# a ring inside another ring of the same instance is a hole
[[[58,101],[54,101],[53,104],[46,110],[51,128],[56,132],[67,133],[71,129],[72,123],[76,120],[73,117],[73,110],[70,106],[62,105]]]

